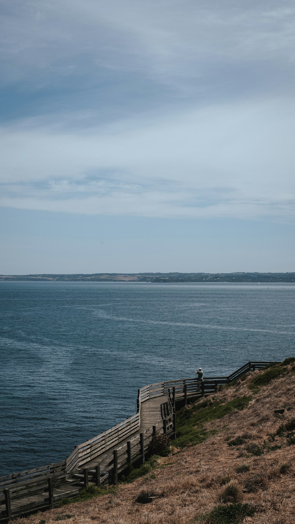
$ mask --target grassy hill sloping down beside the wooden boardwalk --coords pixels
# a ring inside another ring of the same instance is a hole
[[[276,414],[279,408],[285,412]],[[26,524],[294,523],[295,358],[183,408],[172,444],[133,482]],[[159,498],[140,503],[148,493]]]

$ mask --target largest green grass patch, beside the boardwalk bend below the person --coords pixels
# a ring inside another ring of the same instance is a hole
[[[237,397],[224,404],[215,401],[196,402],[191,408],[182,408],[176,414],[177,438],[173,442],[177,447],[195,445],[206,440],[215,430],[206,431],[203,425],[211,420],[221,419],[232,411],[241,411],[248,406],[250,396]]]

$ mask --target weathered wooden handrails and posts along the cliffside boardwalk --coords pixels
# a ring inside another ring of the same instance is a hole
[[[214,391],[218,385],[231,383],[252,369],[265,367],[270,364],[278,364],[278,362],[249,361],[227,377],[206,377],[202,381],[202,394],[204,394],[204,391]],[[117,478],[118,471],[122,471],[124,467],[126,467],[128,463],[127,459],[130,459],[130,461],[134,462],[135,460],[140,459],[140,456],[142,455],[144,460],[145,450],[147,449],[149,439],[152,438],[152,435],[154,435],[155,431],[158,429],[159,431],[163,431],[163,420],[165,421],[166,432],[168,434],[174,434],[175,415],[173,409],[174,406],[172,406],[170,396],[168,395],[168,400],[166,401],[168,406],[167,416],[164,417],[162,421],[156,422],[156,424],[154,423],[154,426],[151,426],[145,431],[139,433],[141,403],[149,400],[150,398],[165,396],[168,394],[168,389],[172,388],[174,399],[173,402],[178,402],[179,400],[186,401],[187,398],[193,398],[201,395],[200,391],[197,390],[198,379],[196,377],[167,380],[140,388],[138,390],[136,414],[134,414],[132,417],[129,417],[125,421],[116,424],[113,428],[96,435],[94,438],[83,442],[78,446],[75,446],[75,449],[65,461],[0,477],[0,498],[3,500],[5,498],[6,512],[10,511],[11,513],[10,491],[11,496],[14,498],[15,496],[18,496],[16,487],[21,487],[21,493],[24,495],[24,497],[26,497],[26,494],[29,492],[39,493],[40,489],[43,489],[47,482],[49,486],[48,498],[37,501],[35,506],[34,504],[31,504],[30,510],[32,511],[37,507],[46,507],[46,504],[50,504],[52,506],[52,482],[59,482],[59,479],[65,478],[65,476],[67,476],[69,473],[74,472],[77,470],[77,468],[89,460],[99,457],[107,450],[110,450],[110,453],[108,453],[107,456],[97,465],[97,467],[99,467],[98,471],[101,471],[101,475],[100,478],[97,479],[97,483],[104,482],[110,476],[114,476],[112,473],[112,469],[114,467],[116,467],[115,477]],[[128,442],[124,442],[120,445],[120,442],[126,440],[129,435],[129,444]],[[116,455],[114,455],[114,447]],[[125,449],[126,452],[124,451]],[[119,454],[117,453],[118,451],[120,451]],[[115,465],[114,456],[117,457]],[[79,493],[79,487],[76,487],[74,490],[72,489],[71,494],[72,493]],[[57,498],[58,497],[56,496],[54,497],[54,499]],[[19,508],[22,508],[22,512],[25,511],[24,506],[19,506]],[[14,513],[14,515],[17,514],[20,514],[19,511],[18,513]]]

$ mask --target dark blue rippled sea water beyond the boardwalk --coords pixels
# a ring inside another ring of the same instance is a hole
[[[137,388],[295,354],[293,284],[0,282],[0,475],[65,459]]]

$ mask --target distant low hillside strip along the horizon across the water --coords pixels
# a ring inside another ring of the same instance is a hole
[[[0,275],[0,280],[61,282],[295,282],[291,273],[92,273]]]

